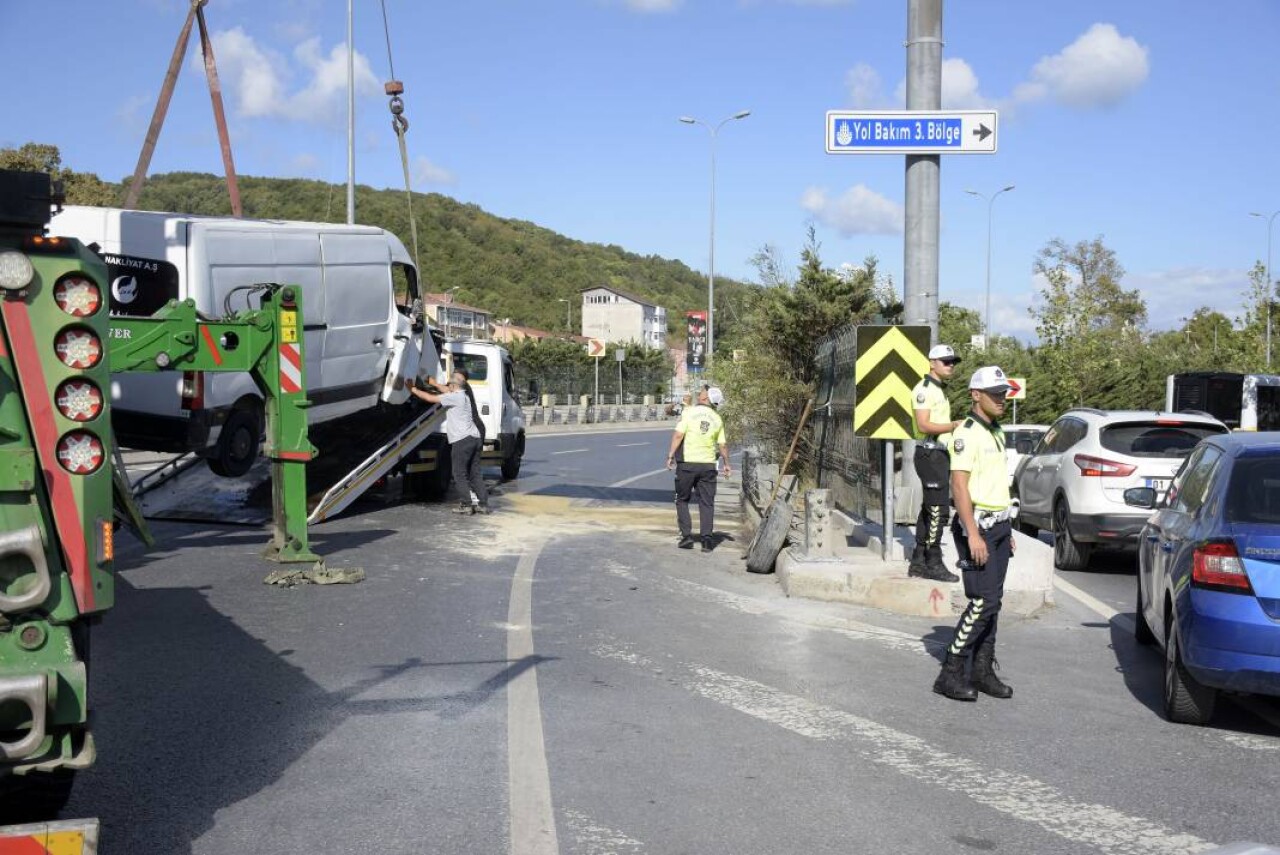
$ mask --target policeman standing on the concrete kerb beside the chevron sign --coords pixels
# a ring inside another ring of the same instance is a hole
[[[942,563],[942,529],[951,515],[947,442],[951,431],[960,426],[959,421],[951,421],[951,402],[947,401],[942,384],[955,374],[959,361],[960,357],[950,344],[936,346],[929,351],[929,372],[911,389],[916,439],[915,474],[924,488],[924,498],[920,516],[915,521],[915,550],[911,552],[906,575],[940,582],[955,582],[960,579]]]

